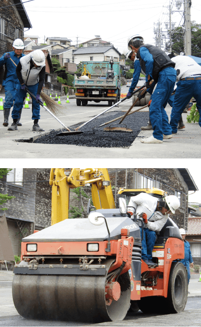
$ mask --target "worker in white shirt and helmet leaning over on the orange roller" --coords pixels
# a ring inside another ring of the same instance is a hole
[[[128,212],[133,215],[135,208],[137,218],[144,220],[144,238],[142,240],[142,260],[148,267],[157,266],[152,261],[152,250],[156,241],[156,232],[159,232],[165,225],[168,213],[179,208],[180,202],[175,195],[169,195],[159,199],[147,193],[140,193],[132,196],[128,205]],[[142,237],[142,231],[141,231]]]

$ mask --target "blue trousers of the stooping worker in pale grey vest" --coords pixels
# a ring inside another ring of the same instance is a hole
[[[35,85],[29,85],[28,88],[36,96],[38,83]],[[26,94],[27,92],[21,89],[20,82],[18,82],[16,86],[15,103],[12,110],[13,119],[20,118],[19,111],[22,108]],[[32,119],[33,120],[40,119],[40,105],[33,98],[32,98]]]

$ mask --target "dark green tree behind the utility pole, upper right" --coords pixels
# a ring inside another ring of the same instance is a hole
[[[177,53],[184,52],[184,36],[182,28],[176,27],[172,31],[172,51]],[[191,22],[191,54],[201,58],[201,24]]]

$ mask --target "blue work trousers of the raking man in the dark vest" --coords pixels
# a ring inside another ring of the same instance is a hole
[[[167,67],[159,73],[158,83],[152,95],[149,117],[154,130],[153,136],[157,140],[163,141],[163,134],[172,134],[165,108],[174,89],[175,81],[176,71]]]

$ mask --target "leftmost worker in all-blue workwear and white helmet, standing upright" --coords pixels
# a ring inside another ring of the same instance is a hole
[[[10,114],[10,108],[13,106],[14,94],[17,85],[17,74],[16,74],[16,66],[9,59],[11,58],[16,65],[19,64],[20,59],[25,56],[22,51],[24,49],[24,43],[20,38],[17,38],[13,42],[13,51],[6,52],[0,58],[0,89],[4,86],[5,89],[5,102],[3,104],[3,115],[4,122],[3,126],[8,126],[8,118]],[[4,69],[3,69],[4,68]],[[1,84],[2,81],[2,84]],[[19,122],[21,117],[23,105],[19,111],[19,118],[17,120],[17,125],[21,126],[22,124]]]

